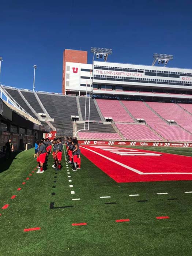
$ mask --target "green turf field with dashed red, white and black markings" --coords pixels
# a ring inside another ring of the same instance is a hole
[[[192,155],[191,148],[137,148]],[[116,183],[83,156],[77,172],[70,165],[67,171],[64,159],[55,172],[51,155],[46,172],[29,176],[36,166],[33,153],[17,154],[11,165],[0,159],[0,256],[192,255],[192,193],[184,193],[192,191],[192,181]],[[73,207],[50,209],[51,202]],[[4,204],[10,206],[2,210]],[[71,225],[81,222],[87,225]],[[23,231],[32,227],[41,230]]]

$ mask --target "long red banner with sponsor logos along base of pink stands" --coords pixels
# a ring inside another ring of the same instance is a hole
[[[83,145],[108,145],[108,146],[152,146],[152,147],[192,147],[191,143],[183,142],[130,142],[107,140],[79,140]]]

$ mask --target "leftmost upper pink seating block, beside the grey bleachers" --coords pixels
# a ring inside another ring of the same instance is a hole
[[[97,104],[104,117],[112,117],[115,122],[134,123],[132,117],[126,112],[119,101],[97,99]]]

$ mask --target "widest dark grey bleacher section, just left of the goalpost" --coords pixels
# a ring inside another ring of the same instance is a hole
[[[73,131],[71,116],[78,116],[76,97],[48,93],[37,94],[50,117],[54,118],[52,122],[54,127]]]

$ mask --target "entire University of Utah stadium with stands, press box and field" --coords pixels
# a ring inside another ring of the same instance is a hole
[[[169,54],[152,65],[89,54],[64,50],[62,93],[35,90],[36,65],[33,90],[0,84],[0,255],[191,255],[192,69]],[[38,175],[43,137],[62,138],[62,168],[49,155]]]

